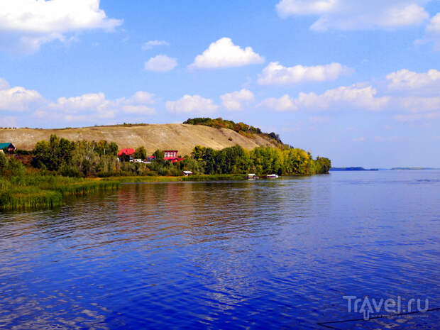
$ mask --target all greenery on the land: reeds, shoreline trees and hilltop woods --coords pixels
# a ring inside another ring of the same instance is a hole
[[[248,173],[314,175],[331,168],[328,158],[314,159],[305,150],[283,144],[277,134],[262,133],[244,123],[206,118],[187,122],[261,134],[276,141],[277,147],[246,150],[234,145],[214,150],[196,145],[175,163],[165,160],[163,150],[154,151],[153,161],[137,163],[126,155],[118,157],[119,146],[114,142],[69,141],[52,135],[32,151],[0,153],[0,211],[58,207],[67,196],[118,189],[128,182],[245,180]],[[145,160],[148,153],[139,147],[133,156]],[[193,175],[183,176],[184,170]]]

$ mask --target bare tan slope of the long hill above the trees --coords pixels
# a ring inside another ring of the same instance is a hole
[[[216,150],[233,145],[241,145],[248,150],[260,145],[275,146],[260,136],[247,138],[226,128],[182,123],[62,129],[0,129],[0,142],[11,142],[18,149],[32,150],[35,143],[40,140],[48,140],[51,134],[67,138],[70,141],[113,141],[119,145],[119,148],[144,146],[148,153],[153,153],[157,149],[179,150],[179,155],[189,155],[195,145]],[[229,138],[232,140],[230,141]]]

